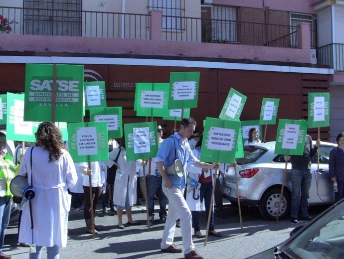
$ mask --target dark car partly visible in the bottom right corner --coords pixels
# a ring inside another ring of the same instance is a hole
[[[344,258],[344,199],[296,229],[278,247],[246,259]]]

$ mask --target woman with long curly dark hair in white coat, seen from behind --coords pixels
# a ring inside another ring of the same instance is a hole
[[[36,246],[30,259],[40,259],[42,247],[47,248],[47,259],[58,259],[59,248],[67,244],[67,188],[75,185],[77,173],[54,124],[41,123],[35,137],[35,147],[27,149],[19,169],[19,175],[27,176],[35,191],[35,197],[23,207],[19,242]]]

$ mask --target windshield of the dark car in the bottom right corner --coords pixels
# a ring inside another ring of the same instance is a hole
[[[281,249],[295,259],[344,258],[344,201]]]

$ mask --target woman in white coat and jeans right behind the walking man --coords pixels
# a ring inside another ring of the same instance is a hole
[[[203,136],[201,135],[198,142],[195,145],[195,148],[192,150],[194,156],[197,157],[198,159],[200,157],[200,152],[201,152],[202,138]],[[210,199],[211,199],[215,171],[209,170],[207,168],[199,168],[199,167],[191,165],[187,167],[187,172],[188,172],[188,176],[191,179],[195,179],[201,184],[200,189],[194,188],[190,190],[190,187],[188,186],[187,192],[186,192],[186,203],[189,206],[189,209],[191,211],[194,235],[197,238],[204,238],[199,228],[199,212],[205,206],[205,214],[207,217],[209,215]],[[204,204],[203,204],[203,201],[204,201]],[[215,237],[221,237],[221,234],[217,233],[214,230],[213,208],[211,208],[210,213],[211,214],[210,214],[210,224],[209,224],[208,234]]]

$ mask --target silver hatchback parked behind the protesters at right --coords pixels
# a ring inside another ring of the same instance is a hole
[[[315,141],[313,142],[315,144]],[[323,142],[319,153],[319,191],[317,191],[318,154],[313,157],[312,183],[310,188],[309,204],[334,203],[333,182],[329,175],[330,151],[336,144]],[[278,204],[285,164],[283,155],[276,155],[275,141],[248,145],[244,147],[244,157],[237,158],[236,188],[234,168],[230,167],[222,179],[221,193],[231,203],[237,204],[237,195],[240,205],[258,206],[259,213],[266,219],[276,220]],[[279,218],[289,216],[291,200],[291,163],[287,164],[287,176],[283,191]]]

